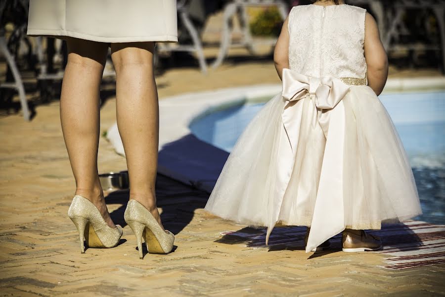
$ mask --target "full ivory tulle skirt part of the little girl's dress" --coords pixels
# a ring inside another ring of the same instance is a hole
[[[330,119],[344,121],[342,128],[327,137],[314,96],[291,106],[286,102],[278,94],[248,125],[224,165],[207,211],[241,224],[267,226],[269,234],[276,224],[312,226],[314,247],[345,228],[380,229],[382,221],[421,213],[401,140],[371,88],[350,88],[335,107],[342,108],[340,116]],[[285,108],[293,109],[287,135]],[[298,135],[298,141],[292,155],[283,156],[279,147],[290,134]]]

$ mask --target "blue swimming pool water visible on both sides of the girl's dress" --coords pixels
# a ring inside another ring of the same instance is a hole
[[[445,224],[445,92],[380,96],[406,149],[424,214],[417,219]],[[204,142],[231,151],[263,108],[246,103],[206,113],[190,124]]]

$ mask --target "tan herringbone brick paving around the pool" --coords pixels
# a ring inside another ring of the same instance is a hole
[[[248,71],[255,77],[240,75]],[[276,84],[272,75],[272,62],[249,62],[221,67],[208,77],[196,69],[172,70],[157,80],[163,99],[235,85]],[[192,85],[199,78],[200,85]],[[209,215],[202,209],[208,193],[163,175],[158,178],[157,195],[164,224],[176,234],[173,253],[147,254],[139,260],[134,235],[123,221],[128,192],[118,191],[108,193],[106,200],[115,222],[124,226],[123,243],[81,254],[77,232],[67,217],[75,185],[58,120],[59,104],[39,105],[36,112],[29,123],[20,114],[0,118],[2,296],[438,296],[445,292],[445,264],[438,260],[443,257],[444,227],[413,222],[397,232],[383,230],[379,235],[385,243],[398,241],[399,249],[405,249],[397,257],[347,254],[335,248],[336,242],[328,252],[307,254],[301,250],[301,228],[277,229],[274,244],[264,247],[262,230]],[[110,98],[101,109],[101,131],[114,122],[115,99]],[[100,172],[126,168],[125,158],[103,137],[98,162]],[[430,265],[384,268],[426,261],[419,256],[422,250],[413,247],[418,240],[431,247]]]

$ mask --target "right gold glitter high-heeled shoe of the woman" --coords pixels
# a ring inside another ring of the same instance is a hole
[[[142,204],[130,199],[124,218],[136,236],[140,259],[144,257],[142,238],[149,253],[167,254],[172,251],[175,236],[170,231],[164,231],[158,221]]]

